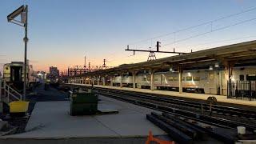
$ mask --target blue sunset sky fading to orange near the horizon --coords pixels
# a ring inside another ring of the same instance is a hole
[[[83,65],[84,56],[92,65],[108,66],[146,61],[148,54],[130,56],[126,45],[134,49],[154,47],[162,50],[203,50],[256,38],[256,20],[225,30],[174,43],[211,29],[256,18],[256,10],[225,18],[195,29],[166,37],[138,42],[198,25],[256,6],[254,0],[2,0],[0,2],[0,63],[22,61],[22,27],[8,23],[6,16],[23,4],[29,5],[28,58],[35,70],[58,66]],[[138,42],[133,44],[134,42]],[[168,43],[173,43],[164,46]],[[132,45],[133,44],[133,45]],[[157,58],[170,54],[157,54]]]

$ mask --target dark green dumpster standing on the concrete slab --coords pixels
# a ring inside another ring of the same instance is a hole
[[[96,114],[98,96],[90,92],[70,94],[70,115]]]

